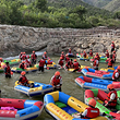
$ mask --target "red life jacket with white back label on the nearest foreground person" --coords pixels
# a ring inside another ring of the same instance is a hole
[[[99,116],[99,109],[98,108],[88,107],[86,109],[87,109],[87,115],[85,116],[86,119],[92,119],[92,118],[96,118]]]

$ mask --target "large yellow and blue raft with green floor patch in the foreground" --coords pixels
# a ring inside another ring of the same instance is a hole
[[[44,97],[45,109],[57,120],[83,120],[73,118],[72,115],[82,112],[88,106],[77,100],[76,98],[69,96],[62,92],[52,92],[46,94]],[[104,117],[97,117],[87,120],[107,120]]]

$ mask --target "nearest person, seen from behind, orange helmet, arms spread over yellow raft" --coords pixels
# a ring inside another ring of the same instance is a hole
[[[85,111],[82,113],[73,115],[74,118],[83,118],[83,119],[94,119],[98,116],[106,116],[105,112],[100,112],[98,108],[95,108],[96,100],[94,98],[89,99],[87,108],[85,108]]]

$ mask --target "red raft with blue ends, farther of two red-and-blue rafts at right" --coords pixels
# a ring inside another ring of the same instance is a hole
[[[89,77],[98,77],[103,80],[111,80],[112,79],[112,73],[110,72],[105,72],[105,71],[97,71],[91,68],[87,69],[82,69],[81,71],[85,76]]]

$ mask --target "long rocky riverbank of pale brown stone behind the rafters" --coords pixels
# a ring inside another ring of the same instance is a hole
[[[15,25],[0,25],[0,56],[15,56],[21,51],[38,51],[47,47],[48,53],[83,52],[93,49],[94,52],[110,50],[113,40],[120,46],[120,31],[107,27],[89,29],[73,28],[38,28]],[[118,49],[118,55],[120,50]],[[119,56],[118,56],[119,58]]]

